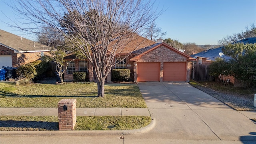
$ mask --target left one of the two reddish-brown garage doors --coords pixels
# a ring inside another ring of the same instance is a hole
[[[138,82],[159,81],[160,62],[138,62]]]

